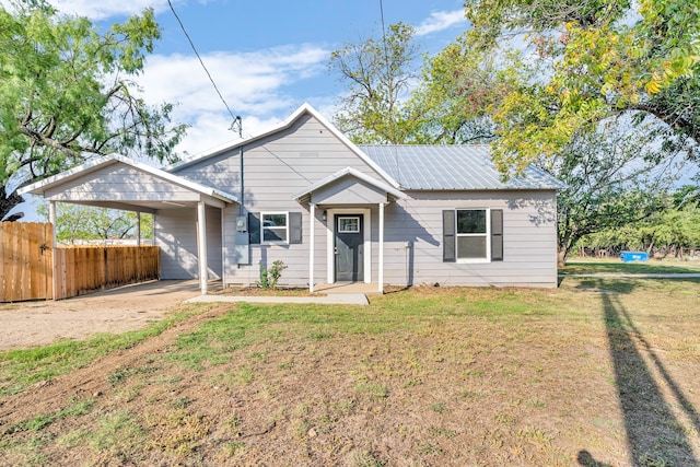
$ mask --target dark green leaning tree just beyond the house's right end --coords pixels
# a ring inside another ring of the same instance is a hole
[[[655,144],[653,132],[640,130],[607,121],[537,161],[567,184],[557,198],[560,266],[586,235],[637,224],[669,207],[667,194],[675,178],[669,174],[677,170],[660,163],[682,161],[681,154]]]

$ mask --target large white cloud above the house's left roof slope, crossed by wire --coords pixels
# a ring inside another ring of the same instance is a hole
[[[318,46],[290,45],[253,52],[217,51],[201,58],[231,112],[244,117],[244,136],[249,136],[302,104],[284,87],[325,72],[328,55]],[[177,151],[196,154],[237,138],[229,130],[231,115],[196,56],[149,56],[138,83],[147,102],[176,104],[173,119],[191,126]]]

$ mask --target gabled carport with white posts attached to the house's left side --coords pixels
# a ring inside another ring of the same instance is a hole
[[[195,237],[192,240],[196,241],[196,270],[188,273],[199,279],[199,288],[203,294],[208,292],[207,281],[210,275],[207,242],[208,238],[221,242],[224,224],[221,222],[215,232],[208,231],[207,211],[211,214],[212,210],[218,210],[219,215],[223,215],[225,207],[238,203],[234,195],[118,154],[88,162],[20,190],[20,194],[27,192],[42,196],[49,201],[51,223],[56,221],[57,202],[135,211],[139,214],[145,212],[154,218],[159,213],[167,214],[175,210],[195,213],[194,232],[190,233],[188,230],[191,225],[185,225],[186,233],[182,235]],[[138,219],[140,233],[141,217],[138,215]],[[178,232],[171,233],[173,244],[179,243],[178,235]],[[138,236],[140,238],[140,234]],[[163,247],[158,242],[156,245]],[[54,230],[52,247],[56,246]]]

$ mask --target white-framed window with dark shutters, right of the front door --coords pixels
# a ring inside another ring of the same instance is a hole
[[[503,260],[503,210],[454,209],[442,211],[443,261]]]

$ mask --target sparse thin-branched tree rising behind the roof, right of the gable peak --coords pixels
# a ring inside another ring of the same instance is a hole
[[[384,38],[346,44],[330,55],[328,68],[348,84],[335,118],[357,143],[404,143],[412,135],[405,100],[416,79],[418,48],[413,27],[392,24]]]

